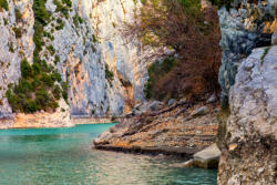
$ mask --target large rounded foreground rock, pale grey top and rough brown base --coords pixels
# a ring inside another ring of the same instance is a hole
[[[276,183],[277,47],[244,60],[230,90],[223,137],[219,185]]]

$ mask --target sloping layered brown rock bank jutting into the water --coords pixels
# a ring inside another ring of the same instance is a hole
[[[137,105],[117,125],[96,137],[93,147],[189,160],[215,143],[216,104],[192,105],[186,101],[171,106],[161,104]]]

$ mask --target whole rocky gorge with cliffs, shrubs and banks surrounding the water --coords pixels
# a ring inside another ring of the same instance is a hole
[[[94,148],[277,183],[277,0],[0,0],[0,129],[119,122]]]

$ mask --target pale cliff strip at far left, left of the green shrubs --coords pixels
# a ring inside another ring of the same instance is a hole
[[[20,9],[22,19],[17,21],[14,9]],[[34,44],[32,0],[11,1],[9,11],[0,11],[0,117],[12,117],[11,107],[4,97],[9,83],[20,78],[21,58],[32,59]],[[16,38],[13,28],[23,30],[21,39]]]

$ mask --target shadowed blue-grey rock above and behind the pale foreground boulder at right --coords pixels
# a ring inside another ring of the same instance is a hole
[[[229,89],[235,83],[237,68],[253,49],[271,44],[271,34],[276,27],[276,0],[234,1],[227,10],[218,11],[223,49],[219,70],[222,103],[228,104]]]

